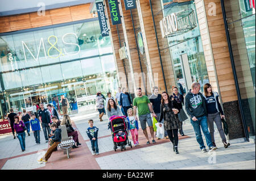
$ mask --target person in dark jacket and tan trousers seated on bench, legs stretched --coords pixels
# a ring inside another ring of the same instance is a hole
[[[57,146],[61,142],[61,129],[57,128],[56,123],[51,124],[52,131],[54,132],[53,138],[49,138],[49,140],[54,141],[52,146],[47,150],[46,154],[43,156],[43,158],[39,159],[39,163],[48,162],[49,157],[51,157],[52,152],[57,148]]]

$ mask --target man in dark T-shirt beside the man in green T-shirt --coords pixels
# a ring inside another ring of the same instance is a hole
[[[162,100],[162,95],[158,94],[158,87],[153,87],[153,94],[150,96],[150,102],[156,115],[155,119],[159,123],[163,123],[163,120],[159,120],[161,100]],[[164,137],[167,139],[169,138],[166,131],[164,131]]]

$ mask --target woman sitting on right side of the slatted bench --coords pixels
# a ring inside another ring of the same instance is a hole
[[[66,125],[68,136],[73,136],[73,140],[76,142],[76,145],[73,145],[72,148],[78,148],[80,144],[78,139],[78,133],[72,128],[71,119],[68,115],[63,116],[63,120],[60,125]]]

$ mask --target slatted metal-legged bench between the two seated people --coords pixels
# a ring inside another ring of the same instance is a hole
[[[65,125],[60,125],[61,129],[61,142],[58,145],[59,148],[64,149],[64,154],[68,155],[69,158],[69,149],[75,145],[75,141],[73,140],[73,136],[68,137],[67,128]]]

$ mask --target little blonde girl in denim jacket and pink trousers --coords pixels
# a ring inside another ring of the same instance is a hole
[[[139,135],[138,135],[138,121],[135,119],[133,108],[129,108],[127,110],[128,117],[127,120],[129,121],[129,130],[131,132],[131,137],[133,137],[133,143],[135,146],[139,145]]]

